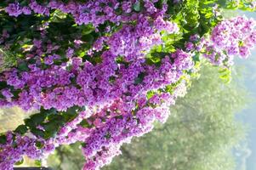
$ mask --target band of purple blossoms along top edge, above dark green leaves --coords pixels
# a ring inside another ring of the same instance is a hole
[[[140,10],[140,5],[142,5],[136,0],[128,0],[121,3],[117,0],[88,1],[87,3],[77,3],[75,1],[63,3],[57,0],[50,0],[49,3],[44,4],[39,4],[35,0],[29,2],[27,6],[22,6],[20,3],[9,3],[5,11],[11,16],[18,17],[20,14],[31,13],[49,15],[50,10],[58,9],[65,14],[71,14],[78,25],[93,24],[94,26],[99,26],[104,24],[105,21],[122,23],[134,20],[141,15],[136,12]],[[144,13],[154,17],[162,15],[166,11],[167,5],[165,4],[163,8],[159,9],[154,4],[157,2],[158,0],[144,0],[143,3],[146,9]],[[134,5],[138,6],[138,8],[134,8]],[[168,23],[167,26],[172,25]]]

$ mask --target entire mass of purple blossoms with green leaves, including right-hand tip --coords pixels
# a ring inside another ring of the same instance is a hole
[[[186,35],[168,13],[179,3],[6,3],[0,57],[9,51],[20,58],[0,74],[0,106],[38,113],[0,136],[0,169],[76,142],[83,169],[100,169],[123,143],[166,122],[196,72],[198,54],[225,66],[233,55],[247,57],[256,43],[253,20],[224,20],[210,37]]]

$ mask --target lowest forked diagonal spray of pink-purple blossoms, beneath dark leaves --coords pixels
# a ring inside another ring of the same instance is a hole
[[[155,94],[148,102],[145,96],[141,97],[136,113],[128,111],[130,106],[121,100],[114,101],[96,113],[92,111],[93,108],[87,108],[88,111],[80,112],[74,120],[61,127],[54,139],[38,139],[32,133],[20,136],[19,133],[8,132],[6,144],[0,144],[0,167],[13,169],[13,164],[21,161],[24,155],[40,159],[60,144],[79,141],[85,143],[82,149],[87,158],[84,169],[99,169],[121,153],[122,143],[151,131],[152,123],[156,120],[165,122],[169,114],[168,106],[174,105],[174,99],[184,95],[184,92],[185,84],[181,83],[173,95]],[[159,106],[150,107],[156,104]],[[87,120],[88,127],[82,126],[83,120]],[[43,130],[43,127],[40,128]]]

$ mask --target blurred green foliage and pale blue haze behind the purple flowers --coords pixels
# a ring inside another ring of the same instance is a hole
[[[242,12],[228,13],[230,17]],[[256,13],[246,14],[256,20]],[[165,124],[131,144],[104,170],[255,170],[256,49],[236,59],[232,81],[219,78],[218,68],[202,65],[185,98],[170,108]],[[19,108],[0,110],[0,133],[12,130],[32,114]],[[78,170],[84,158],[79,144],[59,147],[43,161],[56,170]],[[22,166],[40,166],[26,159]]]

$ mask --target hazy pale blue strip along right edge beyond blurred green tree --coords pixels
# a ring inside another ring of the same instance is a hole
[[[247,17],[253,17],[256,20],[256,13],[245,13]],[[236,154],[239,166],[237,170],[256,170],[256,48],[248,59],[236,59],[236,65],[243,68],[240,81],[248,90],[248,93],[254,98],[249,99],[247,108],[237,117],[248,125],[248,136],[240,148],[239,154]],[[242,80],[243,79],[243,80]]]

